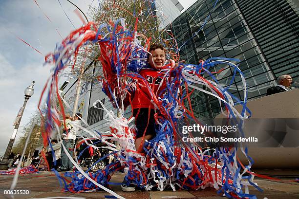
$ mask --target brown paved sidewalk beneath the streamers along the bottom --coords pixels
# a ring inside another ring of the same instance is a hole
[[[279,173],[279,171],[278,171]],[[281,172],[280,172],[281,173]],[[292,178],[295,175],[292,176]],[[112,182],[122,182],[124,174],[116,173],[112,177]],[[9,199],[4,195],[4,190],[9,190],[12,175],[0,175],[0,199]],[[261,193],[254,188],[250,188],[251,194],[256,194],[257,199],[299,199],[299,183],[281,180],[280,182],[269,180],[255,180],[258,186],[264,191]],[[126,199],[224,199],[216,194],[213,188],[198,191],[135,191],[126,193],[118,185],[112,185],[111,190]],[[37,174],[26,174],[19,177],[16,190],[29,190],[28,195],[15,195],[15,199],[46,198],[46,197],[78,197],[85,199],[105,199],[109,195],[107,192],[89,192],[72,194],[61,192],[61,187],[56,176],[52,172],[42,171]]]

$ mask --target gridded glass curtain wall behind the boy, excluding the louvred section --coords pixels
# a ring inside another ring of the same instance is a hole
[[[273,72],[244,18],[242,11],[246,8],[239,9],[235,0],[219,0],[216,4],[215,1],[198,0],[169,26],[168,29],[177,39],[181,59],[189,64],[198,64],[200,59],[211,57],[239,59],[238,67],[247,82],[248,99],[265,96],[267,89],[276,85],[278,73]],[[248,5],[256,0],[243,1]],[[216,70],[219,69],[216,67],[214,72]],[[232,74],[232,70],[227,68],[216,77],[226,87],[231,82]],[[211,79],[209,76],[205,78]],[[236,76],[229,91],[242,100],[244,88],[241,81]],[[196,92],[192,95],[192,109],[199,118],[215,117],[220,112],[220,105],[214,97]]]

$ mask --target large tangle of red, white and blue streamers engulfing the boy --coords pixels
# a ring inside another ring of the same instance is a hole
[[[107,28],[108,34],[103,31],[104,27]],[[228,198],[256,199],[255,195],[248,192],[248,186],[259,189],[253,182],[255,175],[248,172],[249,175],[243,176],[244,173],[250,171],[253,164],[246,147],[240,148],[249,162],[247,166],[243,166],[236,159],[236,147],[208,149],[214,151],[212,155],[208,155],[208,150],[203,151],[188,143],[180,143],[182,135],[177,127],[182,118],[192,118],[200,123],[192,110],[190,100],[192,91],[190,89],[199,90],[217,98],[222,112],[227,115],[227,118],[242,126],[243,120],[249,117],[247,114],[250,115],[250,111],[246,108],[246,81],[243,73],[237,67],[239,60],[214,57],[201,61],[199,65],[180,64],[176,67],[171,62],[161,70],[161,74],[164,76],[161,84],[166,82],[167,88],[164,91],[167,92],[163,97],[158,97],[159,95],[149,87],[147,80],[138,74],[141,68],[147,67],[145,60],[149,53],[149,42],[146,42],[148,39],[139,35],[135,30],[128,30],[124,19],[119,19],[115,24],[102,24],[99,28],[94,22],[89,22],[86,26],[67,36],[55,52],[49,55],[55,66],[52,77],[44,88],[45,90],[47,86],[49,87],[46,102],[48,119],[45,122],[45,132],[43,132],[45,138],[51,136],[54,131],[59,131],[60,115],[64,117],[62,107],[66,102],[58,91],[59,74],[67,67],[70,58],[77,56],[83,45],[99,45],[101,51],[99,60],[103,66],[103,76],[99,76],[98,79],[111,103],[120,111],[120,117],[117,117],[98,100],[94,102],[93,106],[106,112],[106,125],[111,130],[98,132],[80,127],[90,136],[85,138],[88,147],[98,148],[86,140],[101,140],[107,145],[102,147],[112,150],[113,153],[108,155],[113,155],[117,162],[107,165],[103,170],[85,173],[78,162],[73,161],[67,154],[78,170],[65,174],[72,181],[69,183],[64,181],[64,189],[70,192],[83,192],[90,189],[108,191],[106,187],[109,187],[111,176],[116,171],[124,171],[127,180],[145,190],[150,190],[153,187],[157,187],[158,190],[170,187],[173,191],[214,187],[218,193],[222,193]],[[145,40],[139,40],[141,38],[145,38]],[[221,65],[232,69],[232,82],[236,75],[241,77],[244,87],[243,100],[238,100],[228,91],[230,85],[221,86],[214,76],[215,72],[210,72],[214,67]],[[205,75],[210,76],[211,79],[205,79],[203,77]],[[132,80],[136,82],[135,92],[139,90],[140,86],[145,85],[153,105],[159,112],[159,114],[155,114],[157,135],[154,139],[145,141],[144,154],[138,153],[134,145],[133,126],[129,126],[133,118],[126,119],[123,116],[123,103],[126,95],[132,91],[129,83]],[[207,90],[202,89],[201,86],[205,86]],[[57,103],[54,103],[57,98],[60,108],[57,107]],[[96,107],[98,102],[102,107]],[[241,112],[235,109],[236,104],[243,106]],[[69,107],[67,103],[66,107]],[[117,142],[120,149],[107,140]],[[240,173],[242,166],[244,169]],[[243,191],[244,189],[245,191]],[[111,190],[108,192],[122,198]]]

